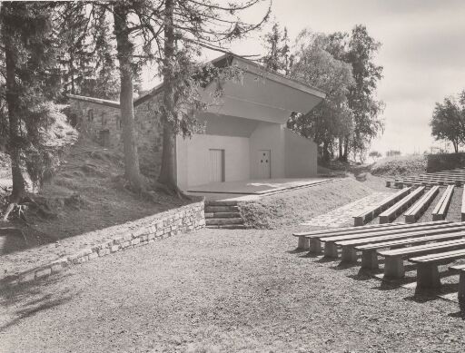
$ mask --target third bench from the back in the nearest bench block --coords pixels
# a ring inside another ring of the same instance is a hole
[[[433,223],[433,222],[431,222]],[[336,235],[333,237],[324,237],[319,240],[324,241],[324,256],[329,258],[337,258],[338,257],[338,246],[344,245],[351,245],[356,246],[359,244],[365,244],[370,242],[374,238],[384,237],[382,240],[391,240],[396,239],[399,237],[403,237],[403,234],[410,234],[411,232],[414,235],[421,235],[424,234],[425,231],[430,230],[437,230],[437,231],[446,231],[447,228],[458,228],[460,226],[465,226],[465,223],[442,223],[440,225],[435,224],[428,224],[421,226],[422,223],[414,223],[417,227],[396,227],[395,229],[388,229],[388,230],[372,230],[370,232],[365,232],[361,234],[344,234],[344,235]],[[410,224],[413,225],[413,224]],[[343,243],[342,243],[343,241]],[[344,251],[344,247],[342,247],[342,254],[347,252],[347,249]]]

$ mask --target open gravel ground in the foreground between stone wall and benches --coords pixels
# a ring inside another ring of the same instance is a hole
[[[295,246],[290,230],[200,230],[2,289],[0,351],[463,351],[456,303]]]

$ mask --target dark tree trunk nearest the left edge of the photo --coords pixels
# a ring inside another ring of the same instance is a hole
[[[2,12],[8,11],[3,5]],[[9,5],[11,6],[11,5]],[[10,10],[11,11],[11,10]],[[11,172],[13,177],[13,191],[11,202],[17,203],[25,195],[25,178],[21,172],[21,138],[19,122],[19,96],[16,88],[15,68],[16,57],[15,47],[12,43],[11,35],[3,32],[3,42],[5,45],[5,67],[6,67],[6,105],[8,107],[9,148],[11,158]]]

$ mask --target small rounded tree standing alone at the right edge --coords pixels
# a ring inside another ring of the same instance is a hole
[[[443,103],[436,103],[430,127],[436,140],[452,142],[454,152],[459,152],[460,144],[465,142],[465,90],[460,93],[459,102],[446,97]]]

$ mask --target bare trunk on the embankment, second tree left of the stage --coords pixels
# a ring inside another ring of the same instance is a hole
[[[128,11],[124,3],[114,3],[114,35],[120,64],[120,109],[123,123],[124,172],[134,191],[143,190],[139,169],[137,142],[135,141],[133,104],[133,53],[134,45],[129,38],[127,27]]]

